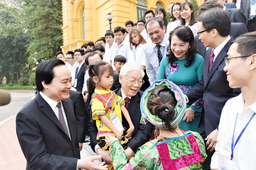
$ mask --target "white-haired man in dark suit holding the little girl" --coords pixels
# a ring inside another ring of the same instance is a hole
[[[128,148],[125,150],[125,154],[127,158],[131,158],[133,154],[137,152],[137,149],[142,146],[144,143],[149,141],[150,135],[154,129],[153,125],[147,123],[146,125],[140,124],[141,120],[141,96],[143,92],[140,91],[141,85],[138,81],[141,81],[144,76],[144,71],[142,71],[141,67],[136,63],[126,63],[122,66],[119,81],[122,85],[120,89],[115,90],[114,92],[123,97],[125,100],[125,107],[127,108],[131,120],[134,125],[134,131],[132,134],[132,141],[129,142]],[[133,84],[132,81],[135,80]],[[126,129],[129,129],[129,124],[125,117],[122,115],[122,124]],[[102,159],[111,162],[110,153],[108,150],[102,150],[97,145],[96,136],[98,133],[98,129],[96,126],[96,121],[91,120],[89,124],[89,132],[91,138],[91,147],[94,152],[98,155],[102,155]],[[125,135],[125,134],[124,134]]]

